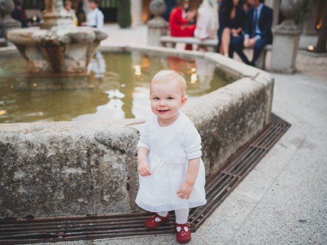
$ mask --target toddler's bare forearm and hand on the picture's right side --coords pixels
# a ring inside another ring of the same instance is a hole
[[[181,199],[189,199],[195,184],[196,178],[198,177],[200,167],[200,158],[194,158],[189,160],[188,175],[180,189],[177,191],[178,197]]]

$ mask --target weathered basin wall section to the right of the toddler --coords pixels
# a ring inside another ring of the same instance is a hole
[[[268,100],[263,84],[243,78],[185,105],[183,111],[202,138],[206,175],[264,128],[270,114]]]

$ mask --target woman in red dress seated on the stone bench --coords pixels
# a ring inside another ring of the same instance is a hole
[[[193,37],[196,24],[187,25],[196,15],[196,11],[190,11],[186,18],[183,18],[183,7],[185,0],[177,0],[176,8],[172,10],[169,17],[170,35],[172,37]],[[187,44],[185,50],[192,50],[192,44]]]

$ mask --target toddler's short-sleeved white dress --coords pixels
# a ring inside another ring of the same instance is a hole
[[[136,204],[148,211],[160,212],[204,205],[205,171],[200,158],[199,173],[189,200],[176,194],[188,173],[189,159],[201,157],[201,137],[192,121],[183,113],[170,126],[160,127],[151,116],[144,125],[137,148],[149,150],[151,175],[139,176]]]

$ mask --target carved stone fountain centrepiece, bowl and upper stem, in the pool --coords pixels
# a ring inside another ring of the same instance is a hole
[[[96,28],[75,27],[61,0],[45,0],[43,19],[40,28],[16,29],[7,34],[27,59],[31,74],[86,75],[90,60],[107,34]]]

